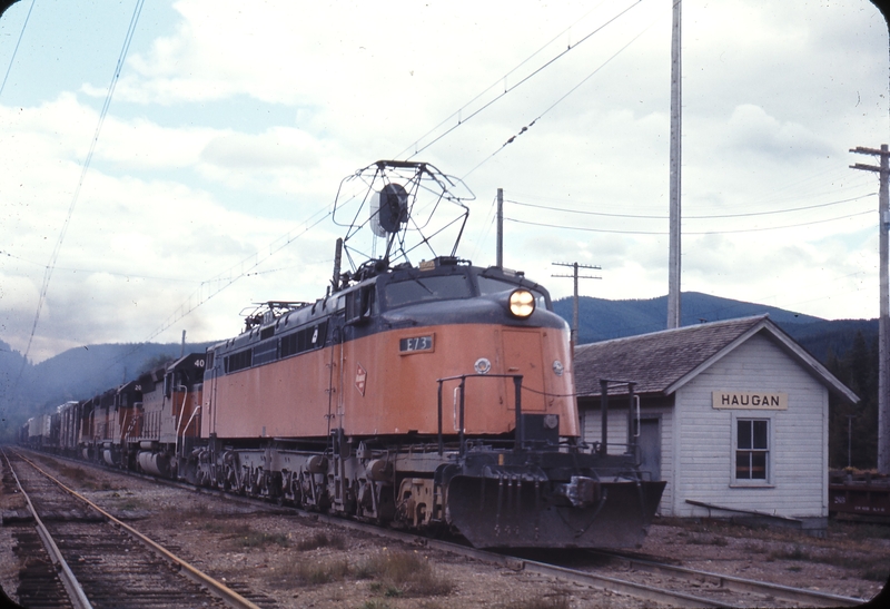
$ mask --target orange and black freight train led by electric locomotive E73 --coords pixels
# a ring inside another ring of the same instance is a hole
[[[454,178],[369,168],[383,256],[340,273],[338,239],[324,297],[265,303],[236,337],[32,419],[21,441],[481,548],[639,547],[664,482],[633,450],[581,442],[548,292],[453,252],[393,264],[413,197]]]

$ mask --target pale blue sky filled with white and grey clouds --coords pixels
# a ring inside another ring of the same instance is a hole
[[[877,158],[849,149],[890,144],[882,16],[682,10],[682,289],[877,317],[878,176],[849,167]],[[463,179],[475,264],[503,188],[504,264],[554,298],[556,262],[668,292],[669,0],[21,0],[0,75],[0,341],[34,362],[323,296],[337,189],[377,159]]]

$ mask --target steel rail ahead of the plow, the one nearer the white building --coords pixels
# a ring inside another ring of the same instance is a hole
[[[783,586],[781,583],[772,583],[769,581],[759,581],[735,576],[724,576],[722,573],[714,573],[711,571],[701,571],[698,569],[690,569],[688,567],[678,567],[674,564],[644,560],[622,552],[613,552],[609,550],[590,551],[591,553],[624,560],[630,563],[631,568],[637,568],[640,570],[653,573],[670,574],[672,577],[679,577],[686,580],[712,581],[721,588],[731,590],[733,592],[772,596],[791,602],[804,603],[805,607],[857,607],[866,602],[866,599],[856,597],[844,597],[840,595],[831,595],[829,592],[820,592],[817,590],[807,590],[805,588],[793,588],[791,586]]]

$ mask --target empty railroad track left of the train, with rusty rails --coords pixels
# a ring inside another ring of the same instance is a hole
[[[259,609],[33,462],[6,451],[3,460],[4,487],[14,481],[33,518],[16,536],[28,557],[17,591],[24,607]]]

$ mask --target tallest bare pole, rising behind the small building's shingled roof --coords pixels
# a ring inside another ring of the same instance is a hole
[[[681,58],[680,4],[673,0],[671,37],[671,213],[668,254],[668,328],[680,327],[680,135],[681,135]]]

